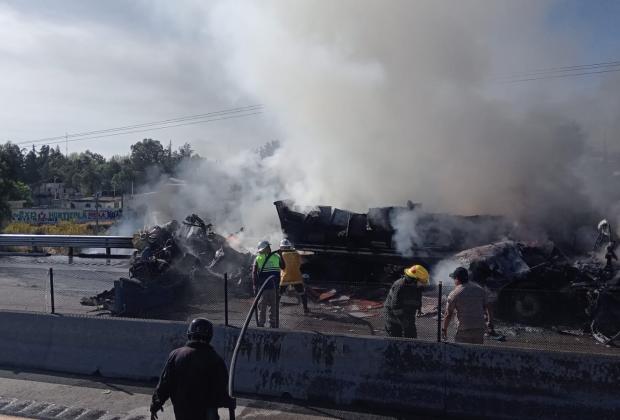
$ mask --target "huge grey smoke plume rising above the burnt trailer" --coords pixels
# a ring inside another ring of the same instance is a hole
[[[574,172],[584,134],[538,95],[509,102],[489,83],[502,60],[569,55],[540,37],[548,4],[226,1],[211,24],[232,80],[279,123],[274,168],[298,202],[412,199],[571,241],[591,211]]]

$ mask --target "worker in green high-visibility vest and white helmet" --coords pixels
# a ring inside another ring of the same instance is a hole
[[[269,311],[269,326],[277,328],[276,305],[277,290],[276,285],[280,284],[280,255],[271,252],[271,245],[267,241],[258,244],[258,254],[252,265],[252,281],[254,285],[254,295],[269,277],[274,276],[272,281],[267,283],[263,295],[258,301],[258,326],[264,327]]]

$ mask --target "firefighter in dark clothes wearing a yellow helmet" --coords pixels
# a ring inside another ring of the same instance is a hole
[[[428,271],[419,264],[405,269],[394,282],[383,305],[385,331],[390,337],[417,338],[416,313],[422,308],[422,292],[428,284]]]

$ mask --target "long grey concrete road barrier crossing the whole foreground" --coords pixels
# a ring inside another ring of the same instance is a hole
[[[0,365],[151,379],[186,325],[0,312]],[[216,328],[230,360],[238,330]],[[237,392],[493,419],[620,418],[620,358],[250,330]]]

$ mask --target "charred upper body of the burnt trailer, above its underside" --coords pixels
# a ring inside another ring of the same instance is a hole
[[[331,206],[299,207],[276,201],[283,234],[299,250],[366,255],[395,263],[432,264],[457,251],[506,237],[510,225],[497,216],[426,213],[419,204],[355,213]]]

